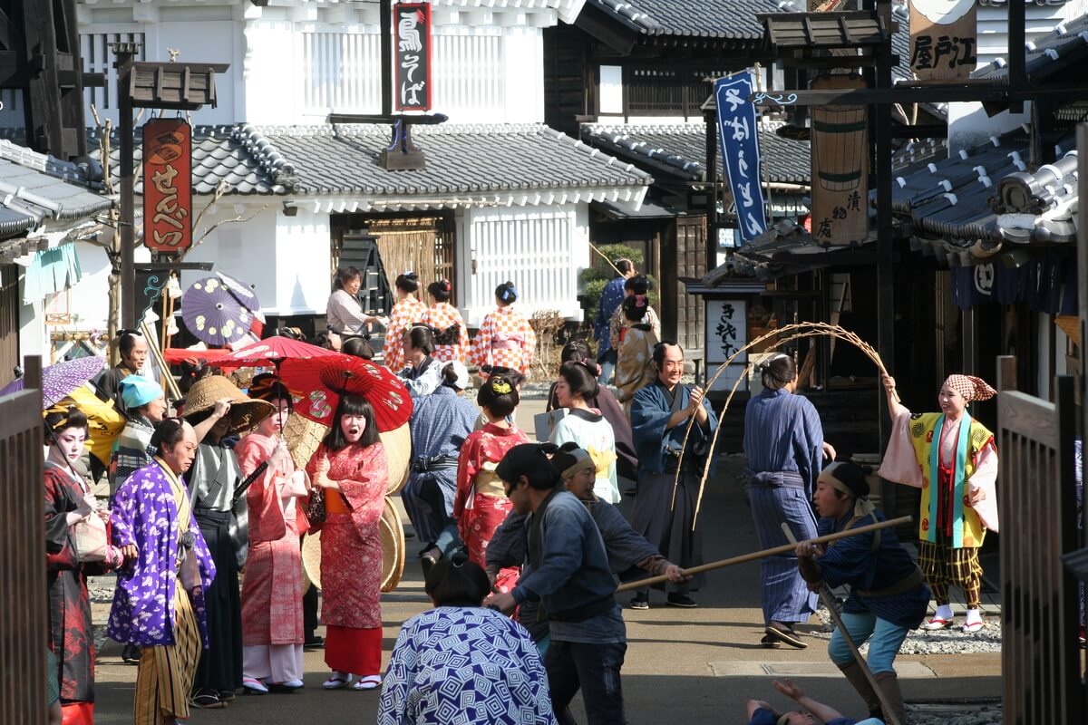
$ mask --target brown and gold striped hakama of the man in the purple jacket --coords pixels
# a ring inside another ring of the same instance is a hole
[[[182,583],[174,587],[174,645],[146,647],[136,671],[136,725],[189,716],[189,691],[200,659],[200,632]]]

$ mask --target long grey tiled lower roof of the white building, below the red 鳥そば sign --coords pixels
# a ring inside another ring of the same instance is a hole
[[[416,127],[426,168],[378,165],[388,146],[383,125],[196,127],[194,192],[225,183],[240,195],[509,193],[534,189],[645,187],[652,179],[543,125]],[[118,164],[116,148],[111,161]],[[136,147],[139,163],[139,146]],[[136,192],[143,192],[137,183]]]

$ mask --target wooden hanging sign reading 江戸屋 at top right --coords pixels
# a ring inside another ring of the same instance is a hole
[[[978,62],[975,0],[911,0],[911,71],[923,80],[962,80]]]

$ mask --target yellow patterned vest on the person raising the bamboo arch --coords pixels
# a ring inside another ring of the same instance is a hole
[[[953,474],[955,486],[953,500],[956,504],[953,512],[952,547],[955,549],[980,547],[986,536],[986,526],[982,525],[975,510],[967,505],[965,484],[975,473],[975,457],[993,438],[993,434],[975,418],[969,415],[966,417],[969,425],[968,434],[965,439],[961,435],[960,445],[956,447]],[[934,484],[936,482],[930,480],[937,470],[934,454],[939,448],[939,441],[934,439],[939,437],[937,428],[943,423],[943,413],[915,413],[911,415],[911,443],[914,446],[914,455],[922,467],[922,505],[918,516],[918,540],[920,541],[937,541],[937,527],[940,521],[937,515],[937,505],[944,505],[940,496],[937,497],[936,502],[934,501]]]

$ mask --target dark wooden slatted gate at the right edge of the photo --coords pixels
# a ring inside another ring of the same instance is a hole
[[[1003,722],[1084,723],[1077,585],[1062,554],[1078,548],[1072,376],[1049,402],[1016,390],[1016,360],[998,359]]]

